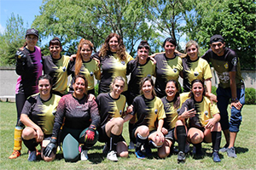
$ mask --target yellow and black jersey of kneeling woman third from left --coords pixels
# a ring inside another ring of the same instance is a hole
[[[119,99],[113,99],[110,94],[99,94],[96,103],[101,116],[101,127],[114,117],[123,116],[125,110],[125,96],[120,94]]]

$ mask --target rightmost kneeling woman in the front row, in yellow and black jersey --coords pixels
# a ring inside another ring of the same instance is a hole
[[[217,105],[205,96],[203,82],[195,79],[191,82],[191,92],[180,110],[180,117],[189,119],[189,143],[195,146],[195,156],[202,156],[201,142],[212,142],[213,161],[221,161],[218,156],[221,140],[220,115]]]

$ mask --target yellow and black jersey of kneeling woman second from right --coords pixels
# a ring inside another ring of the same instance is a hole
[[[174,108],[174,102],[168,101],[166,97],[163,97],[162,102],[164,104],[164,108],[166,111],[166,118],[164,120],[164,127],[169,131],[172,130],[172,128],[175,127],[175,124],[177,122],[177,110],[179,108]]]

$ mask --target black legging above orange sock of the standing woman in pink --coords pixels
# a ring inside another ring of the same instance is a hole
[[[17,109],[17,122],[16,122],[16,127],[23,127],[24,125],[20,122],[20,114],[23,109],[23,106],[26,102],[26,99],[30,96],[31,94],[16,94],[15,97],[15,102],[16,102],[16,109]]]

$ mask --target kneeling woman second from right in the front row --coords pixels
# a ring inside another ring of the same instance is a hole
[[[166,118],[162,127],[162,133],[165,134],[166,141],[160,148],[160,153],[162,154],[160,157],[166,157],[170,154],[172,144],[176,139],[178,143],[177,162],[180,163],[186,159],[184,152],[187,134],[184,123],[178,120],[177,111],[180,108],[180,90],[178,87],[178,83],[175,80],[168,81],[166,83],[166,97],[161,99],[166,111]]]

